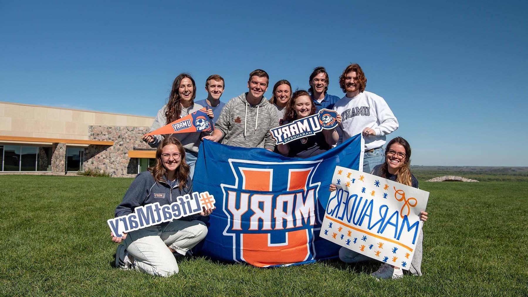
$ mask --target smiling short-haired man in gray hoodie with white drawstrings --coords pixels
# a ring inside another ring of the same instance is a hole
[[[269,76],[257,69],[249,73],[249,91],[229,100],[216,120],[214,132],[203,138],[241,147],[275,149],[269,130],[279,126],[277,110],[264,97]]]

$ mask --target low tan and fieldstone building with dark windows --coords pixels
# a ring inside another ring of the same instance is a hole
[[[0,174],[84,170],[134,177],[155,151],[141,136],[153,117],[0,102]]]

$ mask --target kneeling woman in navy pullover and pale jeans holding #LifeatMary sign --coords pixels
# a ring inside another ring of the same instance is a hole
[[[139,173],[130,184],[123,201],[116,208],[116,217],[125,216],[136,207],[159,202],[169,205],[178,196],[191,194],[192,180],[185,163],[185,149],[174,137],[167,137],[156,151],[156,165]],[[212,209],[200,215],[208,216]],[[207,234],[207,227],[194,216],[112,236],[120,243],[116,251],[116,267],[135,269],[152,275],[170,276],[178,273],[173,253],[185,255]]]

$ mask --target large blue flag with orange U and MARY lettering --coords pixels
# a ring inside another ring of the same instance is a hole
[[[363,147],[358,134],[299,159],[203,141],[193,190],[213,194],[216,209],[201,253],[260,267],[336,257],[340,246],[319,237],[328,188],[336,165],[363,168]]]

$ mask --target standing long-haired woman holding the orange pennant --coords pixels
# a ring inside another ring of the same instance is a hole
[[[194,103],[196,97],[196,84],[194,79],[188,73],[178,75],[173,83],[171,94],[168,97],[168,103],[158,110],[154,123],[150,126],[149,132],[161,128],[169,123],[174,122],[196,110],[203,108],[200,104]],[[213,111],[208,110],[208,115],[213,118]],[[205,132],[176,133],[173,137],[178,138],[186,152],[186,162],[190,166],[191,178],[194,175],[194,164],[198,156],[198,147],[203,136],[209,135]],[[150,145],[157,147],[164,137],[168,135],[143,135],[142,139]]]

